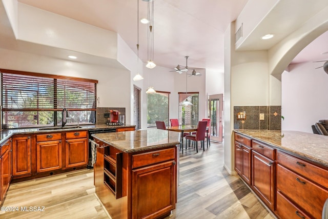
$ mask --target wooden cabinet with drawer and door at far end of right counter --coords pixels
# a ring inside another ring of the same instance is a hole
[[[235,170],[251,185],[251,140],[235,133]]]

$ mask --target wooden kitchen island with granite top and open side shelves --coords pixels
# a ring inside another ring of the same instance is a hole
[[[96,195],[115,218],[158,218],[175,209],[180,134],[149,129],[92,134]]]

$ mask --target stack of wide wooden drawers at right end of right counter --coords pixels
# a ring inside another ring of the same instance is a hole
[[[278,153],[277,161],[278,216],[287,218],[285,212],[295,210],[291,214],[295,218],[298,215],[321,218],[328,198],[328,171],[282,152]],[[290,205],[284,205],[283,201]]]

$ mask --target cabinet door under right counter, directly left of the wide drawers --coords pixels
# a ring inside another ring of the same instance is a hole
[[[252,150],[252,188],[274,210],[275,200],[275,163],[269,158]]]

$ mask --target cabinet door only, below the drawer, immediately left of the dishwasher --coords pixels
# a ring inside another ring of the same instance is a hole
[[[88,140],[78,138],[66,140],[66,167],[87,165]]]

